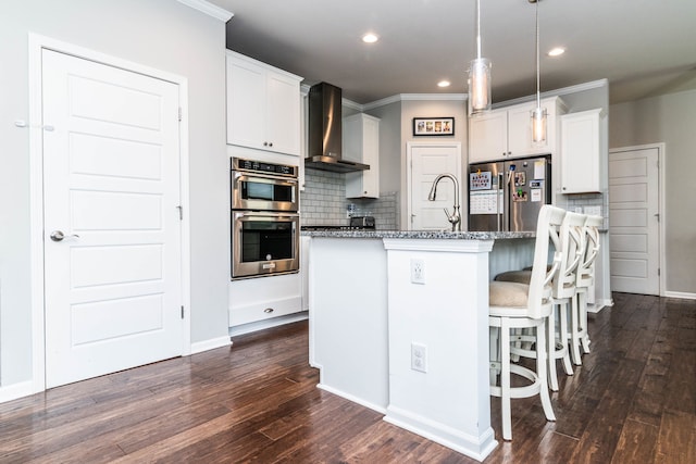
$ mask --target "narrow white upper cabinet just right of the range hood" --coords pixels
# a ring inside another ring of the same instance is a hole
[[[343,159],[370,166],[346,173],[346,198],[380,198],[380,118],[360,113],[343,124]]]

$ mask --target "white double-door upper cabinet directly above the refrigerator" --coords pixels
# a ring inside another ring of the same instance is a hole
[[[532,141],[531,112],[536,102],[521,103],[469,120],[469,162],[499,161],[549,154],[557,151],[558,116],[564,113],[560,98],[542,100],[547,111],[546,141]]]

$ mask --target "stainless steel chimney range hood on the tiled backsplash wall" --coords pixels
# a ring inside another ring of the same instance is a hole
[[[370,166],[341,159],[341,91],[331,84],[320,83],[309,89],[309,156],[304,167],[351,173]]]

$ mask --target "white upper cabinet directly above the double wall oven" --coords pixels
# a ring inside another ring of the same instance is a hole
[[[227,143],[300,154],[301,77],[227,51]]]

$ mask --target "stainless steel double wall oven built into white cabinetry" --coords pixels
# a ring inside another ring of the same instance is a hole
[[[232,278],[299,271],[298,166],[232,159]]]

